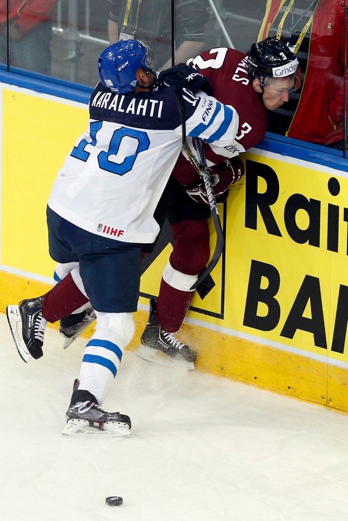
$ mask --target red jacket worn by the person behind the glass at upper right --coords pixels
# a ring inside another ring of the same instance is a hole
[[[267,38],[282,4],[271,0],[259,40]],[[318,0],[301,98],[287,132],[290,138],[319,144],[343,139],[344,38],[344,0]]]

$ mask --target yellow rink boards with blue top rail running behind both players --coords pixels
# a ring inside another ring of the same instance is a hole
[[[88,92],[2,76],[0,309],[52,284],[45,208],[57,170],[88,121]],[[52,94],[53,93],[53,94]],[[61,97],[64,96],[64,97]],[[291,143],[291,144],[289,144]],[[243,156],[246,175],[220,205],[226,249],[215,284],[195,294],[182,338],[197,368],[348,410],[347,166],[294,140]],[[171,244],[141,278],[137,331]],[[211,246],[214,247],[211,229]]]

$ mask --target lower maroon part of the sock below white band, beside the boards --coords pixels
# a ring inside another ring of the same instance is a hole
[[[181,291],[161,280],[155,318],[167,333],[177,331],[182,325],[194,291]]]

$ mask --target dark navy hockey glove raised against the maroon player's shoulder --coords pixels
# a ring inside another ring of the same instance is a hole
[[[208,95],[212,94],[208,78],[184,63],[158,72],[156,85],[165,87],[181,86],[189,89],[191,92],[204,91]]]

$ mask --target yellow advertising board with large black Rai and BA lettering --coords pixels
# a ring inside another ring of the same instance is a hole
[[[226,327],[348,362],[347,193],[344,172],[248,155],[229,207]]]

